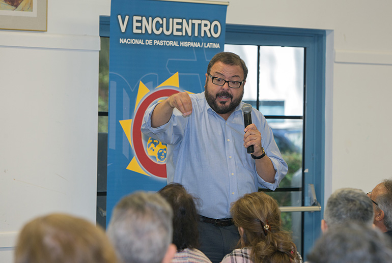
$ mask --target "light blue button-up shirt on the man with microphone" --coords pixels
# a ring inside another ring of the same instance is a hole
[[[277,148],[263,114],[253,109],[252,122],[261,132],[261,144],[276,170],[275,183],[256,172],[255,160],[243,146],[244,118],[241,102],[225,121],[208,105],[204,92],[189,95],[192,113],[183,116],[176,108],[168,123],[151,127],[155,105],[146,110],[142,132],[167,143],[167,182],[182,184],[201,199],[199,214],[228,218],[231,203],[259,187],[275,190],[287,173],[287,164]]]

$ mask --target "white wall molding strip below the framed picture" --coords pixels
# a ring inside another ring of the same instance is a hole
[[[0,47],[100,50],[99,36],[0,31]]]

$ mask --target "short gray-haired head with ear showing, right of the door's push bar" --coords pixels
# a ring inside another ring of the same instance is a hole
[[[360,222],[367,225],[373,223],[373,203],[370,198],[359,189],[342,188],[331,194],[321,220],[321,230],[348,222]]]

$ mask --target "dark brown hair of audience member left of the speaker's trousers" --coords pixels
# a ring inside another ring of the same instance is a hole
[[[193,196],[178,183],[166,185],[158,193],[173,208],[173,244],[177,251],[199,248],[199,215]]]

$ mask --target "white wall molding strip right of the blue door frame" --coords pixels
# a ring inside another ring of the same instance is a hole
[[[392,52],[335,50],[335,63],[392,65]]]

